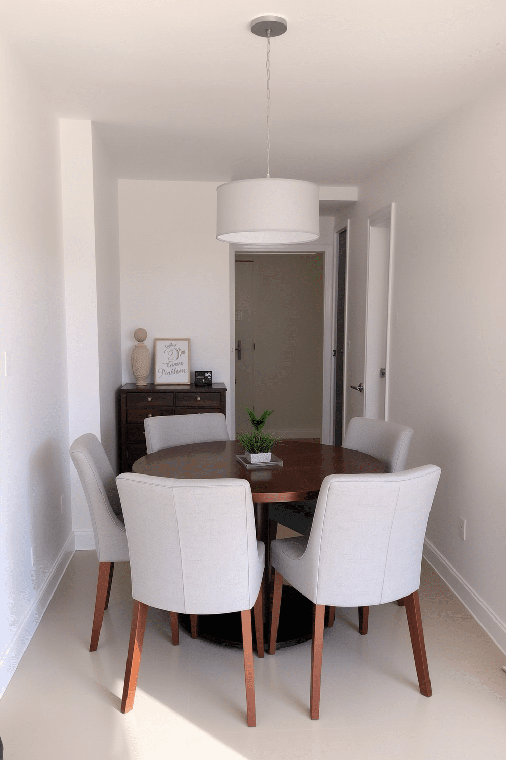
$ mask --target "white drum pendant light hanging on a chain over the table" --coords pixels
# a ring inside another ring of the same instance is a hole
[[[267,38],[267,176],[219,185],[216,237],[244,245],[291,245],[319,238],[319,187],[270,174],[271,37],[287,29],[284,18],[260,16],[251,31]]]

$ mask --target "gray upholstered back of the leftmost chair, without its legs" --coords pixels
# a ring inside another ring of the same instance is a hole
[[[71,445],[71,458],[90,508],[99,561],[128,562],[127,534],[115,476],[96,435],[80,435]]]

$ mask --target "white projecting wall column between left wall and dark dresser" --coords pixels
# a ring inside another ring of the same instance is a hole
[[[70,440],[93,432],[116,464],[121,386],[118,180],[89,119],[60,119]],[[71,467],[76,548],[93,548],[90,511]]]

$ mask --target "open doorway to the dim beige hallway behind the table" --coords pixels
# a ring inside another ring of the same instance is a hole
[[[286,438],[320,441],[325,254],[236,253],[234,265],[236,430],[247,405],[275,410],[266,427]]]

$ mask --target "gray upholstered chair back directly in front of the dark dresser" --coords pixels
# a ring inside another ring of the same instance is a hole
[[[144,420],[148,454],[161,448],[207,441],[228,441],[225,414],[175,414]]]

